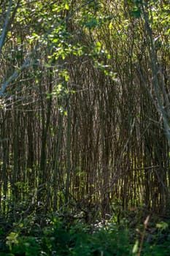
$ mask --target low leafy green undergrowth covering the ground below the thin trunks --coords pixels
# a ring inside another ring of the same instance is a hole
[[[30,217],[8,229],[1,223],[0,256],[168,256],[170,252],[169,224],[163,221],[136,229],[112,219],[87,225],[82,219],[69,222],[56,216],[45,222],[42,227]]]

